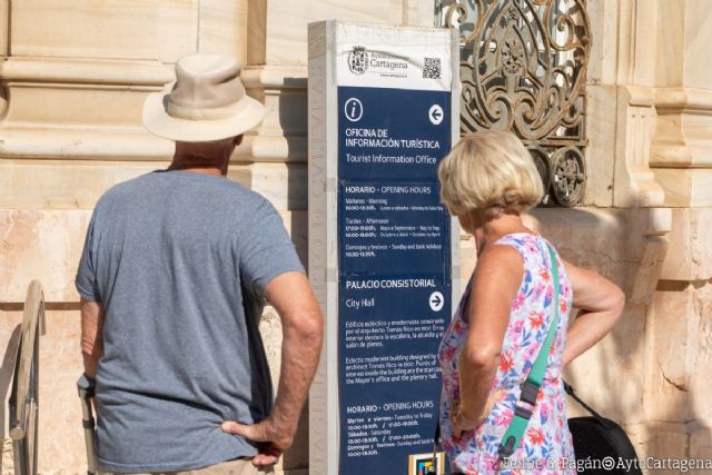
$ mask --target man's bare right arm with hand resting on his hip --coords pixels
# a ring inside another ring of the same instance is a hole
[[[275,407],[266,419],[243,425],[226,422],[222,429],[267,443],[253,464],[271,465],[291,446],[322,353],[322,310],[306,276],[285,273],[265,287],[265,297],[281,318],[281,372]]]

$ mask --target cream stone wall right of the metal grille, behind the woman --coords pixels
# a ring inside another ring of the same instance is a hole
[[[709,457],[712,82],[701,48],[710,6],[587,4],[589,208],[534,216],[553,228],[566,258],[612,278],[627,304],[612,335],[568,377],[626,427],[640,456]],[[591,239],[596,232],[605,248]]]

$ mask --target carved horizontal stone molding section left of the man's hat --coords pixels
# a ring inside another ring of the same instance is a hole
[[[0,158],[156,160],[172,145],[141,125],[149,92],[172,71],[158,61],[9,58]]]

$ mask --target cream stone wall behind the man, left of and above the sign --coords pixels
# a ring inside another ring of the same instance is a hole
[[[146,96],[172,80],[190,52],[237,56],[248,93],[270,113],[236,150],[229,178],[280,211],[307,261],[307,23],[325,19],[432,24],[432,2],[390,0],[0,0],[0,392],[31,279],[47,299],[40,372],[42,474],[85,472],[76,380],[81,373],[73,276],[91,210],[112,185],[158,168],[172,144],[146,132]],[[261,321],[274,376],[279,319]],[[305,418],[306,420],[306,418]],[[7,409],[0,473],[12,473]],[[279,472],[304,474],[300,428]]]

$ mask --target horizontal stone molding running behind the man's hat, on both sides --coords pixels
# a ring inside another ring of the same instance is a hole
[[[172,78],[158,61],[10,58],[0,66],[11,96],[0,158],[170,159],[172,142],[144,129],[141,109]],[[306,78],[303,67],[245,69],[248,93],[269,115],[235,162],[306,162]]]

